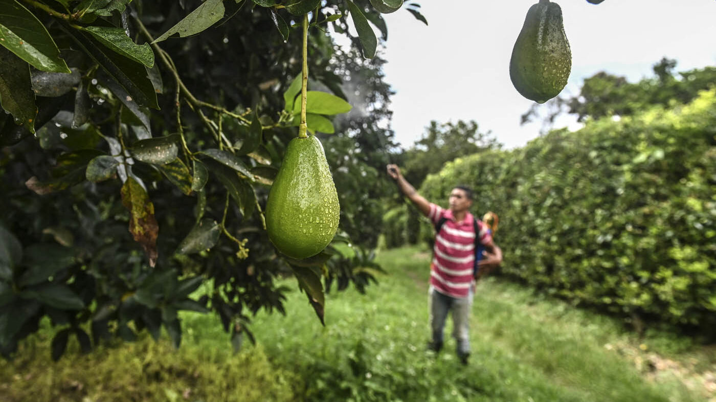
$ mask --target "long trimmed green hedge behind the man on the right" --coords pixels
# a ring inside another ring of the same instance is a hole
[[[460,183],[500,216],[503,274],[627,320],[716,325],[716,90],[457,159],[420,192]]]

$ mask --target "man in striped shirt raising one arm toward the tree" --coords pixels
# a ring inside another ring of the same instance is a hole
[[[502,250],[492,239],[487,225],[470,214],[473,191],[457,186],[450,191],[449,209],[442,209],[421,196],[408,183],[396,165],[387,166],[388,175],[400,191],[410,198],[417,209],[436,227],[435,246],[430,263],[428,312],[432,339],[428,348],[435,352],[442,348],[442,334],[448,312],[453,313],[453,337],[457,343],[460,362],[468,363],[470,356],[470,310],[475,292],[475,275],[497,267],[502,262]],[[476,244],[485,252],[476,259]]]

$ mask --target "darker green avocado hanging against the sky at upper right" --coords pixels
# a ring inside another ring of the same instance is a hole
[[[540,0],[527,11],[512,49],[510,79],[523,97],[544,103],[567,85],[571,67],[562,9],[554,2]]]

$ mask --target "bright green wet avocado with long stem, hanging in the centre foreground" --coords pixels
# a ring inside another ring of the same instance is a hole
[[[312,257],[332,241],[340,216],[338,193],[323,146],[306,125],[308,15],[304,14],[299,137],[286,148],[266,204],[266,231],[279,252]]]

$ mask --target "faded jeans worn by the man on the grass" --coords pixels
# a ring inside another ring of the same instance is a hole
[[[473,289],[465,298],[455,298],[430,287],[427,291],[428,312],[430,313],[430,330],[432,330],[432,344],[442,345],[442,332],[448,312],[453,312],[453,338],[457,343],[458,355],[470,354],[470,311],[473,307]]]

